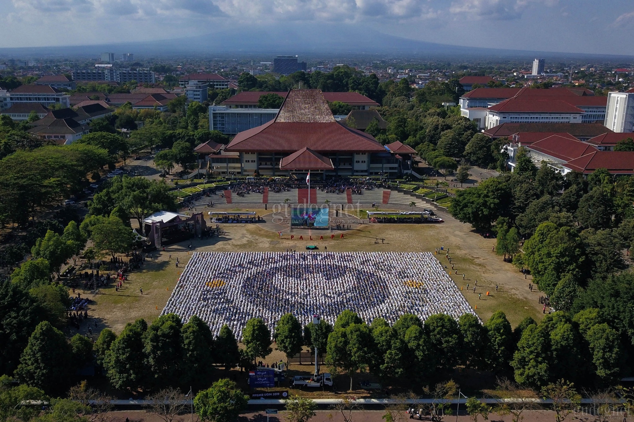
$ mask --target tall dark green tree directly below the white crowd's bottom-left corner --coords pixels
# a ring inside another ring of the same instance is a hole
[[[165,314],[154,320],[143,333],[147,375],[159,388],[179,383],[183,361],[182,326],[176,314]]]

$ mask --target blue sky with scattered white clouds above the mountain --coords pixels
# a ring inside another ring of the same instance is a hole
[[[364,28],[457,46],[634,55],[632,0],[0,0],[0,47]]]

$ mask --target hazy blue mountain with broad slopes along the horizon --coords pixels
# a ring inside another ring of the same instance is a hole
[[[212,34],[179,39],[146,42],[125,42],[92,46],[0,48],[0,56],[97,56],[102,51],[131,52],[139,58],[147,56],[274,56],[299,54],[301,56],[408,56],[410,58],[463,57],[463,58],[603,58],[630,60],[631,56],[609,56],[583,53],[552,53],[451,46],[393,35],[381,34],[358,25],[292,25],[275,27],[235,28]]]

